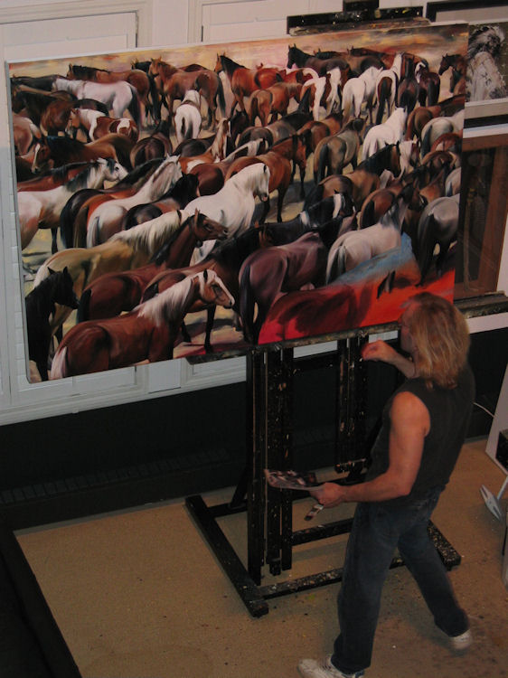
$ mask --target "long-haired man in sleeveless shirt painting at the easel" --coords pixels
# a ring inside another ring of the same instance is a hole
[[[446,299],[416,295],[400,317],[400,348],[409,357],[382,341],[362,352],[365,360],[390,363],[407,377],[383,410],[365,482],[325,483],[311,492],[325,508],[359,504],[338,597],[340,635],[334,654],[298,664],[306,678],[362,676],[371,664],[381,589],[396,548],[451,647],[461,651],[472,643],[466,614],[427,531],[473,405],[466,320]]]

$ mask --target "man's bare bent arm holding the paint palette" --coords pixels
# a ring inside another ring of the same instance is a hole
[[[343,502],[382,502],[409,494],[429,428],[428,410],[423,402],[407,391],[399,393],[390,410],[390,462],[386,472],[359,485],[325,483],[311,494],[327,508]]]

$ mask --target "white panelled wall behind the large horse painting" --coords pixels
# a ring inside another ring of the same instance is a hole
[[[381,7],[421,5],[418,2],[381,0]],[[135,12],[137,45],[156,47],[196,42],[201,33],[213,41],[239,37],[272,37],[284,33],[288,14],[338,11],[342,3],[332,0],[68,0],[66,3],[33,0],[19,5],[0,0],[0,55],[5,55],[9,24],[30,20],[50,21],[70,17],[78,25],[80,15]],[[508,13],[507,13],[508,15]],[[106,19],[104,19],[106,21]],[[203,25],[203,28],[201,26]],[[33,26],[33,24],[32,24]],[[30,24],[27,25],[27,42]],[[114,33],[114,31],[112,31]],[[22,36],[23,37],[23,36]],[[58,37],[58,36],[57,36]],[[52,35],[48,36],[51,42]],[[45,41],[44,41],[45,42]],[[116,42],[114,43],[116,44]],[[108,47],[104,38],[104,49]],[[83,52],[90,50],[84,49]],[[97,50],[93,50],[97,51]],[[62,53],[62,52],[59,52]],[[72,52],[75,54],[76,52]],[[48,56],[47,52],[40,56]],[[7,132],[7,99],[4,73],[0,73],[0,425],[15,421],[76,412],[176,392],[192,391],[233,381],[243,381],[243,358],[190,365],[168,361],[50,383],[30,383],[26,377],[23,295],[19,250],[14,219],[12,158]],[[475,331],[484,326],[506,325],[506,314],[478,319]],[[484,324],[484,325],[483,325]],[[325,350],[319,344],[315,351]]]

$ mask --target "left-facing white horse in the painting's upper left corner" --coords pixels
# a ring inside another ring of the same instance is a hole
[[[122,118],[128,110],[136,125],[139,125],[137,90],[126,80],[103,83],[93,80],[55,78],[52,89],[71,92],[77,99],[97,99],[112,111],[114,118]]]

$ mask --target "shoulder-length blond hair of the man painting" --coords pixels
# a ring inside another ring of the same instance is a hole
[[[428,386],[456,386],[466,366],[469,330],[464,315],[447,299],[428,292],[411,297],[414,311],[408,327],[416,347],[416,370]]]

